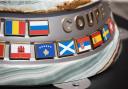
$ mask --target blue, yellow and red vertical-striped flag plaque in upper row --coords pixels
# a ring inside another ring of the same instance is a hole
[[[5,21],[5,35],[24,36],[26,30],[26,22],[18,20]]]

